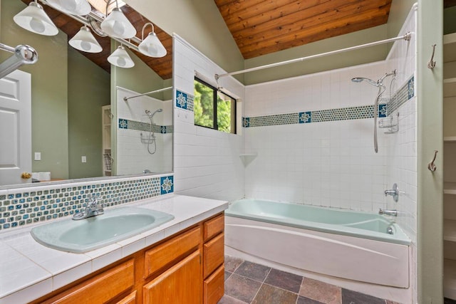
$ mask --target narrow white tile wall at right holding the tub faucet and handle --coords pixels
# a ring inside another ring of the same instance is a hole
[[[410,41],[403,43],[397,41],[391,48],[386,63],[390,69],[398,70],[398,85],[404,83],[410,75],[415,75],[416,83],[416,31],[417,26],[417,6],[413,6],[408,18],[399,35],[412,33]],[[416,92],[417,90],[415,90]],[[399,112],[399,132],[389,136],[390,145],[388,148],[388,184],[394,182],[398,184],[402,192],[397,204],[392,199],[388,199],[388,208],[398,209],[399,214],[396,221],[404,229],[412,240],[412,263],[410,265],[410,287],[413,290],[413,302],[418,299],[418,272],[416,256],[417,241],[417,196],[418,196],[418,174],[417,174],[417,97],[405,103]],[[395,113],[393,113],[395,114]]]

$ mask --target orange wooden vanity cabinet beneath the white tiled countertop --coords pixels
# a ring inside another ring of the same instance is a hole
[[[216,304],[224,293],[223,231],[217,214],[32,303]]]

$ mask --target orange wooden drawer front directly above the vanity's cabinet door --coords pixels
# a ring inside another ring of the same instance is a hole
[[[201,230],[196,227],[146,251],[145,277],[147,278],[173,261],[177,261],[185,253],[194,251],[199,246],[200,238]]]

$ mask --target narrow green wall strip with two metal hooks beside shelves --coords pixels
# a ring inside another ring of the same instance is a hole
[[[443,303],[443,1],[418,1],[417,150],[418,303]],[[435,68],[427,68],[436,44]],[[430,172],[427,164],[438,150]]]

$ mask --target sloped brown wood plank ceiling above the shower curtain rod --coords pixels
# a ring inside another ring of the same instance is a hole
[[[388,22],[392,0],[214,0],[245,59]],[[402,0],[395,0],[402,1]],[[445,7],[456,0],[445,0]]]

